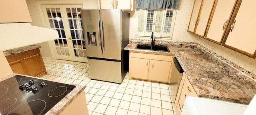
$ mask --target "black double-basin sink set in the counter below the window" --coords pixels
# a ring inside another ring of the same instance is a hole
[[[147,45],[147,44],[137,44],[135,49],[170,52],[167,46]]]

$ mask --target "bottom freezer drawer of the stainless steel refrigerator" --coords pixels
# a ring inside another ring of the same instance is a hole
[[[90,78],[122,83],[121,62],[88,59]]]

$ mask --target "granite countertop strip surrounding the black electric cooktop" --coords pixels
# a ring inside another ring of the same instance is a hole
[[[11,75],[7,75],[6,77],[0,78],[0,81],[3,81],[5,79],[8,79],[8,78],[13,77],[15,75],[21,75],[21,74],[13,73]],[[32,76],[29,76],[29,75],[23,75],[23,76],[32,77]],[[40,78],[40,77],[32,77],[32,78],[43,79],[43,78]],[[44,79],[44,80],[51,81],[49,79]],[[54,81],[54,82],[56,82],[56,81]],[[71,85],[74,85],[74,84],[71,84]],[[58,102],[56,105],[54,105],[54,107],[52,107],[52,109],[50,109],[45,115],[59,115],[60,113],[62,113],[62,111],[64,111],[64,109],[66,109],[66,107],[68,107],[68,105],[70,105],[70,103],[74,99],[76,99],[76,97],[80,93],[84,93],[85,87],[86,86],[83,86],[83,85],[76,85],[76,87],[70,93],[68,93],[68,95],[66,95],[62,100],[60,100],[60,102]]]

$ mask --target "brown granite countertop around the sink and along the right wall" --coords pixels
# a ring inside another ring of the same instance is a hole
[[[198,97],[248,105],[256,93],[256,81],[195,44],[168,44],[170,52],[135,47],[128,44],[124,50],[175,54]]]

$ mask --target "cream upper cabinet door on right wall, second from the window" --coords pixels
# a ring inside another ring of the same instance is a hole
[[[204,0],[202,4],[202,8],[199,13],[199,18],[197,20],[197,27],[195,30],[195,34],[204,37],[206,27],[208,25],[208,20],[210,18],[210,14],[212,12],[212,6],[214,5],[215,0]]]

